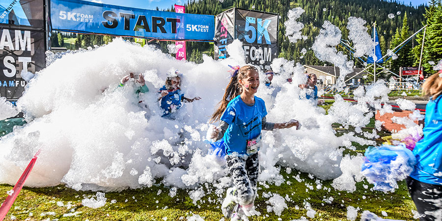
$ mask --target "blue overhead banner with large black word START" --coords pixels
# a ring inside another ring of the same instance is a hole
[[[51,0],[54,30],[166,40],[213,41],[215,16]]]

